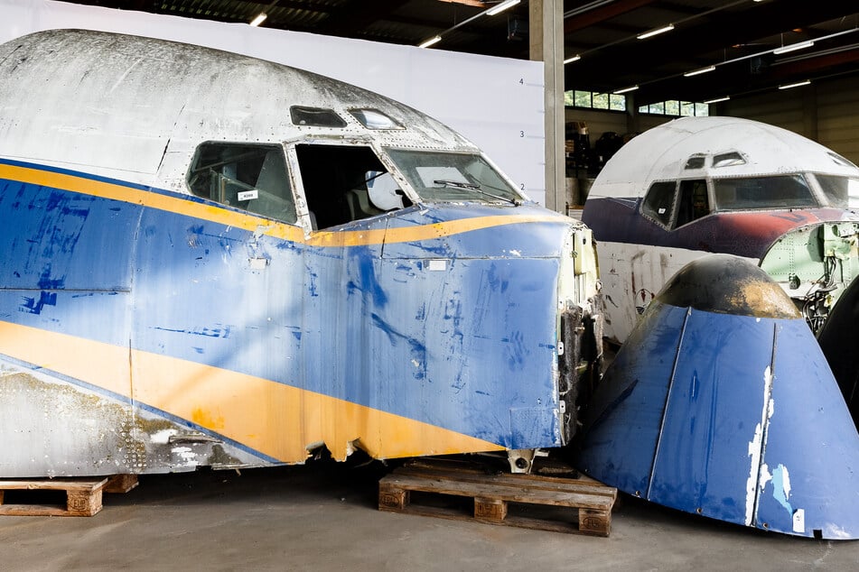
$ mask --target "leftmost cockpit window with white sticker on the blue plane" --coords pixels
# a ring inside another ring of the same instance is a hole
[[[198,197],[294,223],[295,204],[280,145],[202,143],[188,171]]]

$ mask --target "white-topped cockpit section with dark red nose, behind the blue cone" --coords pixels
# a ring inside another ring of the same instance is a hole
[[[749,190],[779,178],[803,180],[808,201],[791,207],[789,186]],[[817,331],[859,275],[855,199],[845,189],[836,205],[826,178],[859,184],[859,168],[798,134],[745,119],[684,117],[633,138],[593,182],[582,217],[599,244],[606,336],[624,342],[666,281],[711,253],[761,265]],[[728,204],[719,187],[739,180],[755,183],[738,185],[733,198],[746,192],[767,200]],[[687,221],[683,188],[698,181],[708,210]],[[671,198],[658,205],[660,215],[647,201],[665,185]]]

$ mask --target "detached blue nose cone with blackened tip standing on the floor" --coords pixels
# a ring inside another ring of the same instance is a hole
[[[760,268],[677,272],[607,370],[578,466],[622,491],[763,530],[859,538],[859,434],[817,342]]]

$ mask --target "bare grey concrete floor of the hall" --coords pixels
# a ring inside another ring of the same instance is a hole
[[[379,512],[386,470],[320,461],[144,475],[93,517],[0,517],[0,570],[859,569],[859,541],[765,533],[629,496],[607,539]]]

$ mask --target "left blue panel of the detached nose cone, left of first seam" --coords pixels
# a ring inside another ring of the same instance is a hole
[[[578,466],[637,496],[647,494],[686,309],[650,304],[609,366],[586,414]]]

